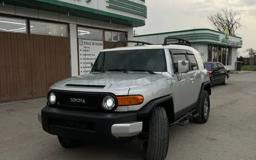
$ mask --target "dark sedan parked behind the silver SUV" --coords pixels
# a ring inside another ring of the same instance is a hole
[[[228,84],[230,77],[230,70],[219,62],[204,62],[208,74],[210,76],[211,85],[214,84]]]

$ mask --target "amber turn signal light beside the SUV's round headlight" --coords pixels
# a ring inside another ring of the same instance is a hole
[[[141,95],[117,96],[116,98],[117,98],[118,106],[140,105],[144,101],[144,98]]]

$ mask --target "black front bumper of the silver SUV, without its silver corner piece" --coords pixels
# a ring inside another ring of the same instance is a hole
[[[137,121],[137,113],[101,113],[63,110],[45,106],[41,111],[43,130],[49,134],[85,141],[126,142],[134,137],[117,138],[113,124]]]

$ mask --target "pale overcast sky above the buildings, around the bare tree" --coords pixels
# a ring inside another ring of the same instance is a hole
[[[247,28],[238,30],[242,37],[241,54],[246,48],[256,49],[256,0],[145,0],[146,25],[134,28],[136,34],[171,32],[194,28],[213,29],[207,21],[208,14],[232,7],[240,11],[241,23]]]

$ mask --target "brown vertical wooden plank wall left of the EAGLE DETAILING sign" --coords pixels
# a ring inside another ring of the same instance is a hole
[[[0,102],[46,96],[70,77],[68,37],[0,32]]]

